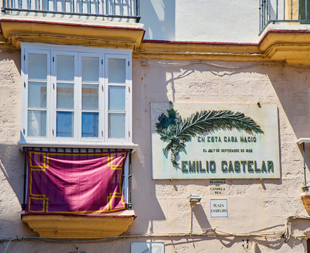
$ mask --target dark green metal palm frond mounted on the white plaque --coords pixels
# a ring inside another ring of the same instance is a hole
[[[172,103],[170,103],[172,105]],[[195,112],[190,117],[182,120],[176,110],[173,108],[167,110],[168,117],[162,113],[158,117],[158,123],[155,124],[160,139],[167,142],[163,152],[166,154],[172,151],[171,161],[174,167],[176,157],[181,149],[186,147],[186,142],[191,141],[192,137],[198,134],[205,134],[218,129],[238,129],[248,133],[264,134],[260,126],[250,117],[241,112],[232,112],[231,110],[203,110]]]

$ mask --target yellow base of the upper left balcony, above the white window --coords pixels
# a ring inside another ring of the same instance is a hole
[[[6,44],[20,48],[20,41],[79,46],[135,49],[144,30],[139,27],[109,27],[77,23],[0,19]]]

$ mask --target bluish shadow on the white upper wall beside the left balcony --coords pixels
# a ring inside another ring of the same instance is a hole
[[[175,40],[175,0],[140,1],[140,13],[146,30],[144,39]]]

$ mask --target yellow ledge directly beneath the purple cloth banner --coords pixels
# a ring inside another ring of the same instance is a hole
[[[127,211],[102,216],[24,215],[22,221],[40,237],[103,238],[122,235],[135,217]]]

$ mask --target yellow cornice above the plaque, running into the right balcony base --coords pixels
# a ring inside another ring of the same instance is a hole
[[[285,61],[310,65],[309,30],[266,30],[257,44],[144,40],[134,58]]]

